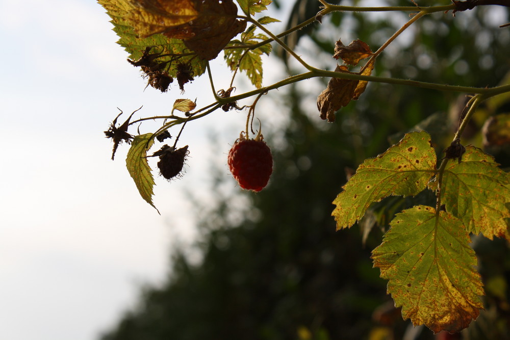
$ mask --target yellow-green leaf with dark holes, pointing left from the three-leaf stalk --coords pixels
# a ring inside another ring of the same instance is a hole
[[[359,221],[373,202],[423,191],[436,163],[436,152],[426,132],[406,134],[398,144],[363,162],[333,201],[336,208],[331,215],[337,230]]]

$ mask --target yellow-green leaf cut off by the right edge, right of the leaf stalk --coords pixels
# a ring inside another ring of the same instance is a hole
[[[494,158],[467,146],[462,162],[450,160],[443,174],[442,202],[446,211],[461,219],[469,232],[510,241],[506,218],[510,211],[510,174]]]

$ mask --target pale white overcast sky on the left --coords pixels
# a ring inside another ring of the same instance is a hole
[[[127,146],[111,161],[104,131],[117,107],[162,115],[177,98],[201,107],[212,96],[206,78],[185,94],[175,84],[144,91],[109,20],[92,0],[0,0],[0,338],[97,338],[135,305],[141,285],[164,281],[172,245],[197,236],[186,192],[214,199],[211,162],[228,175],[245,113],[220,110],[187,125],[177,145],[189,144],[185,176],[156,177],[161,215],[125,169]],[[218,78],[218,88],[230,82]],[[230,180],[224,194],[240,191]]]

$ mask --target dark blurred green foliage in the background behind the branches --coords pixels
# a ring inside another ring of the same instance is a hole
[[[386,4],[410,6],[396,0]],[[318,10],[316,0],[296,0],[290,14],[273,16],[292,26]],[[336,40],[342,38],[348,44],[344,36],[359,38],[375,50],[408,19],[408,13],[335,13],[287,42],[305,46],[305,52],[300,50],[303,58],[322,63],[315,66],[333,69]],[[409,30],[412,34],[397,39],[378,58],[373,74],[450,85],[508,84],[510,28],[498,28],[501,21],[508,22],[510,17],[508,9],[499,6],[480,6],[458,12],[456,17],[426,16]],[[291,62],[280,58],[282,67],[295,72]],[[466,96],[370,84],[360,100],[342,109],[334,123],[326,123],[315,109],[315,99],[326,83],[327,79],[320,84],[308,81],[269,94],[278,96],[276,101],[283,103],[278,110],[288,119],[273,136],[266,135],[269,145],[273,145],[272,137],[283,141],[272,148],[274,172],[268,187],[257,194],[242,193],[249,204],[241,219],[231,218],[232,199],[238,198],[218,198],[213,208],[198,201],[200,263],[190,261],[185,249],[174,250],[167,282],[145,287],[139,305],[126,311],[103,334],[103,340],[438,336],[402,320],[400,310],[386,295],[386,281],[379,278],[370,260],[370,251],[380,243],[395,211],[410,202],[399,197],[383,200],[358,226],[336,232],[331,201],[352,169],[409,130],[427,130],[441,153],[451,142]],[[510,166],[510,144],[488,138],[492,130],[487,121],[508,117],[509,112],[509,96],[487,101],[462,140],[492,153],[506,168]],[[211,190],[215,190],[226,175],[223,169],[212,173],[216,175]],[[433,197],[425,194],[418,199],[426,202]],[[453,338],[508,339],[508,244],[476,236],[473,247],[486,285],[486,310]]]

